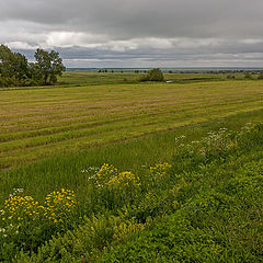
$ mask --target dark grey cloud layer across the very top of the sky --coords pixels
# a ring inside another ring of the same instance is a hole
[[[0,20],[114,36],[262,36],[261,0],[1,0]]]

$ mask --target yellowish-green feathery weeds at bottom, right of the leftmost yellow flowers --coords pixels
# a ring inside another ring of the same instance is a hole
[[[78,229],[54,237],[37,253],[30,256],[21,252],[18,262],[93,262],[92,258],[104,251],[108,243],[117,244],[144,228],[145,226],[123,217],[92,216],[90,219],[84,218]]]

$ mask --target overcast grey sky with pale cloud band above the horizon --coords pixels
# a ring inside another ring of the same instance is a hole
[[[263,67],[262,0],[0,0],[0,43],[67,67]]]

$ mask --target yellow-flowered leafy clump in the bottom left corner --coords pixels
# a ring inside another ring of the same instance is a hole
[[[76,198],[72,191],[61,190],[39,204],[16,188],[0,210],[0,261],[10,262],[20,251],[36,251],[55,232],[73,224]]]

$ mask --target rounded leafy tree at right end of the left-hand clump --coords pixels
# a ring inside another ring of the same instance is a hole
[[[57,77],[61,76],[66,70],[59,53],[52,50],[50,53],[38,48],[35,53],[36,64],[32,66],[34,76],[41,78],[44,84],[54,84]]]

